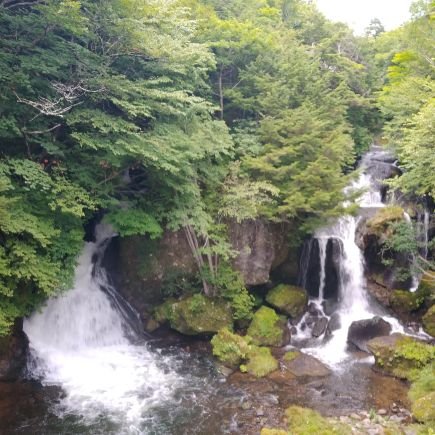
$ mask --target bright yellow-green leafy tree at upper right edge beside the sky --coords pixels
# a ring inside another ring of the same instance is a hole
[[[388,117],[386,135],[403,175],[393,185],[406,193],[435,197],[435,22],[431,2],[413,6],[414,19],[400,36],[379,106]]]

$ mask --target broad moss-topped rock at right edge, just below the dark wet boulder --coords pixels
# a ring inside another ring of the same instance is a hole
[[[435,360],[434,346],[402,334],[374,338],[367,347],[378,370],[402,379],[412,379],[417,370]]]

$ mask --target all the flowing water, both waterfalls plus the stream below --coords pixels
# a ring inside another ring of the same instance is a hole
[[[325,362],[333,369],[331,376],[283,382],[253,381],[240,373],[226,378],[205,342],[146,339],[134,310],[116,294],[101,266],[112,233],[100,225],[96,241],[86,244],[79,259],[73,289],[25,320],[27,380],[0,384],[0,433],[254,434],[262,426],[279,424],[290,404],[331,416],[393,403],[406,407],[406,386],[373,372],[372,358],[349,351],[346,343],[350,323],[374,315],[403,332],[367,296],[364,260],[355,243],[365,209],[384,206],[379,168],[390,159],[377,147],[367,153],[353,185],[366,189],[360,215],[319,229],[301,258],[300,284],[308,288],[317,244],[320,270],[311,303],[321,316],[335,316],[338,327],[328,337],[313,338],[307,314],[290,325],[295,330],[290,348],[302,348]],[[331,243],[338,264],[332,284],[326,268]]]

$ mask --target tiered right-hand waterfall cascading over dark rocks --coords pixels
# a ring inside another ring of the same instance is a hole
[[[330,326],[326,329],[325,335],[315,337],[316,334],[312,333],[310,327],[311,313],[308,312],[296,325],[293,344],[305,347],[307,352],[331,366],[338,367],[341,362],[349,358],[347,334],[353,321],[381,315],[392,325],[393,332],[403,332],[397,319],[386,316],[379,306],[369,301],[364,276],[364,257],[355,242],[358,222],[362,216],[385,206],[382,180],[391,175],[394,167],[392,156],[382,148],[373,146],[362,159],[359,179],[350,186],[351,189],[364,189],[358,201],[360,206],[358,215],[343,216],[331,225],[319,229],[313,239],[306,243],[302,253],[299,284],[307,288],[312,295],[311,304],[315,306],[316,315],[327,317]],[[312,277],[310,264],[313,263],[313,256],[316,254],[313,244],[317,245],[318,251],[318,260],[314,260],[319,266],[317,269],[319,278],[314,283],[314,287],[318,285],[318,291],[313,289],[313,283],[309,283],[309,277]],[[331,249],[328,255],[328,246],[331,244],[337,247],[335,249],[337,258],[333,260],[335,267],[332,268],[327,267],[329,256],[334,254],[334,249]],[[328,273],[337,275],[336,282],[333,282],[335,289],[328,289],[330,287],[328,280],[331,281]],[[332,294],[335,292],[335,304],[331,304],[331,298],[325,294],[326,290]]]

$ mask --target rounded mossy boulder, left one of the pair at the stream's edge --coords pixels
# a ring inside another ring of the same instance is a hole
[[[249,337],[233,334],[227,328],[221,329],[211,340],[213,355],[224,365],[237,368],[248,358],[249,340]]]

